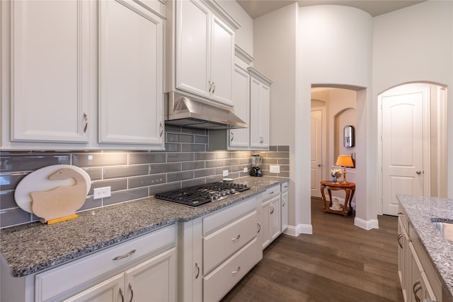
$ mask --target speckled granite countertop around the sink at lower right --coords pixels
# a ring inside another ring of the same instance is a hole
[[[442,284],[453,298],[453,244],[432,226],[431,219],[453,223],[453,199],[397,194]]]

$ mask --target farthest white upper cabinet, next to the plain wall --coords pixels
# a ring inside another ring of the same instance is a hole
[[[269,102],[272,81],[252,67],[248,68],[250,78],[250,146],[269,148]]]

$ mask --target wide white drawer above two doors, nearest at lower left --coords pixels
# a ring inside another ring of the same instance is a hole
[[[61,294],[79,291],[89,286],[90,282],[100,277],[108,276],[118,269],[127,268],[137,263],[140,258],[159,252],[163,248],[171,247],[176,243],[176,226],[173,224],[166,228],[144,236],[127,241],[112,248],[96,252],[75,260],[74,262],[50,269],[47,272],[37,274],[35,277],[36,301],[47,301]],[[120,260],[114,257],[127,255],[135,250],[130,256]]]

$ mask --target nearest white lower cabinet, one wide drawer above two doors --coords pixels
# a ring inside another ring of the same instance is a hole
[[[175,301],[175,246],[172,225],[36,274],[35,301]]]

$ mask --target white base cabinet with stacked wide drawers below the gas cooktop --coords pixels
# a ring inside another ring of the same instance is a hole
[[[256,197],[182,223],[178,301],[219,301],[263,257]]]

